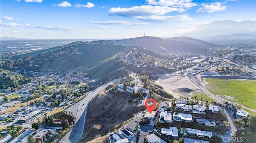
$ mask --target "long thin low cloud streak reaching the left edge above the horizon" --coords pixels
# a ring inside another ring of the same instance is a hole
[[[0,25],[3,27],[20,27],[23,29],[72,30],[70,27],[35,26],[31,24],[1,23]]]

